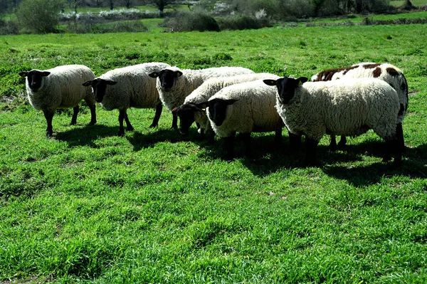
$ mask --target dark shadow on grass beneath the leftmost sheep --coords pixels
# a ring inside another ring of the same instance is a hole
[[[81,128],[74,128],[63,132],[58,132],[55,135],[56,140],[68,142],[71,147],[74,146],[90,146],[98,147],[93,140],[100,137],[110,137],[117,135],[119,127],[111,127],[105,125],[90,125]]]

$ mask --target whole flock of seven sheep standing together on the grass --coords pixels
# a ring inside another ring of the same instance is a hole
[[[28,100],[42,110],[46,135],[53,135],[52,119],[57,108],[73,107],[75,125],[78,104],[90,108],[89,125],[96,123],[95,101],[105,110],[119,110],[120,129],[134,128],[127,117],[130,107],[154,108],[150,127],[156,127],[163,105],[172,111],[172,127],[188,135],[196,122],[201,137],[210,132],[226,137],[228,159],[233,158],[236,132],[251,154],[251,132],[273,132],[281,139],[288,129],[290,147],[299,147],[305,135],[305,165],[316,164],[317,144],[331,135],[330,148],[337,147],[334,135],[362,135],[372,129],[386,141],[384,162],[394,156],[399,167],[404,150],[402,120],[408,108],[408,84],[404,74],[390,64],[359,63],[347,68],[322,71],[308,78],[254,73],[241,67],[181,70],[167,63],[142,63],[117,68],[95,78],[84,65],[63,65],[48,70],[19,73],[26,78]]]

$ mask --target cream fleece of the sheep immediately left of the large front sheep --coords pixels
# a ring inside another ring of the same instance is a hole
[[[265,85],[262,80],[240,83],[221,89],[209,100],[236,99],[228,105],[226,119],[216,126],[209,117],[216,135],[230,137],[235,132],[272,132],[281,127],[282,120],[275,110],[277,88]],[[209,113],[209,107],[206,108]]]

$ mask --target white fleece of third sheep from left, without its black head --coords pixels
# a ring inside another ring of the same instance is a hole
[[[160,80],[157,78],[157,90],[159,91],[160,100],[168,110],[181,106],[187,95],[210,78],[254,73],[253,70],[243,67],[217,67],[200,70],[181,70],[177,67],[167,69],[182,72],[182,75],[176,78],[172,90],[168,92],[160,86]]]

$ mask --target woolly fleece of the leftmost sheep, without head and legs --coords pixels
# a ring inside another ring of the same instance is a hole
[[[41,88],[33,92],[26,78],[26,91],[30,104],[36,110],[53,112],[57,108],[75,107],[83,99],[95,104],[92,88],[82,83],[93,80],[95,75],[85,65],[63,65],[48,70],[51,74],[43,77]]]

